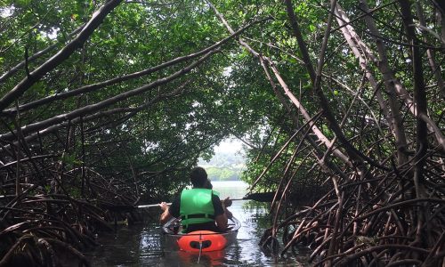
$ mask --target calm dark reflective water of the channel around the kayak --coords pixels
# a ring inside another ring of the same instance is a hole
[[[244,182],[212,182],[220,197],[242,198]],[[92,266],[307,266],[305,255],[275,258],[263,253],[258,243],[263,231],[271,225],[267,204],[250,200],[233,201],[229,208],[241,222],[238,239],[223,251],[198,255],[172,251],[163,246],[159,228],[160,211],[147,213],[152,223],[123,227],[114,234],[102,235],[97,247],[88,254]],[[154,221],[154,222],[153,222]]]

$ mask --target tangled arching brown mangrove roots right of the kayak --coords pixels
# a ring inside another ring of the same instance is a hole
[[[401,183],[409,190],[399,190]],[[283,239],[281,255],[301,246],[314,249],[311,260],[316,266],[440,266],[445,255],[445,199],[437,190],[441,186],[425,183],[429,197],[417,198],[406,193],[415,191],[409,179],[400,180],[395,174],[382,175],[374,183],[344,182],[339,186],[344,198],[332,192],[279,224],[284,229],[302,218],[287,234],[292,238]]]

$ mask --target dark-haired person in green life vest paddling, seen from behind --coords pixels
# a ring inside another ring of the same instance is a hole
[[[206,189],[207,174],[202,167],[195,167],[190,173],[192,189],[182,190],[181,196],[175,198],[168,207],[166,202],[159,206],[164,211],[160,223],[168,222],[172,217],[181,218],[184,232],[190,231],[225,231],[227,229],[227,214],[224,212],[229,198],[221,199],[213,190]]]

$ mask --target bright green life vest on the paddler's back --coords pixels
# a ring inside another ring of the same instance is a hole
[[[184,228],[194,223],[214,222],[212,190],[202,188],[182,190],[179,214]]]

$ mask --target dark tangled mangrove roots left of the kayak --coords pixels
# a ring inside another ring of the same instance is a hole
[[[111,222],[119,214],[110,214],[91,200],[73,198],[65,190],[48,194],[42,187],[29,188],[8,202],[0,198],[0,267],[60,266],[65,258],[89,266],[82,251],[97,246],[96,232],[113,231]],[[0,190],[13,193],[8,184]],[[113,190],[99,186],[95,194],[117,206],[133,206],[136,201],[127,197],[117,201]]]

